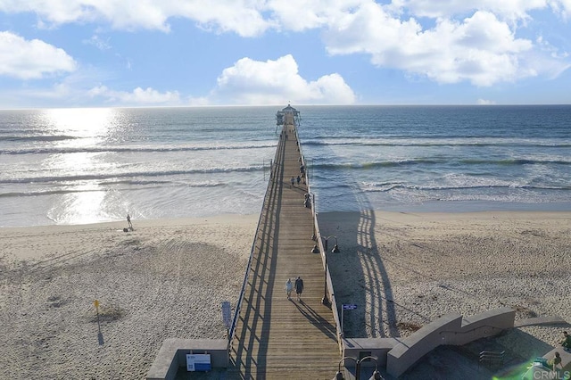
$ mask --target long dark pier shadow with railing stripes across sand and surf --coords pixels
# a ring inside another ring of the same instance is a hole
[[[340,180],[352,189],[349,203],[360,211],[343,212],[343,223],[336,226],[329,220],[335,213],[318,214],[318,220],[322,236],[335,236],[341,250],[339,253],[327,252],[337,306],[357,305],[356,310],[343,313],[344,335],[356,338],[400,336],[391,280],[377,249],[375,212],[353,178]],[[339,313],[341,315],[341,310]]]

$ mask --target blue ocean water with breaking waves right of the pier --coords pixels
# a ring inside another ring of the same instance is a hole
[[[302,142],[327,211],[571,210],[571,106],[310,111]]]

